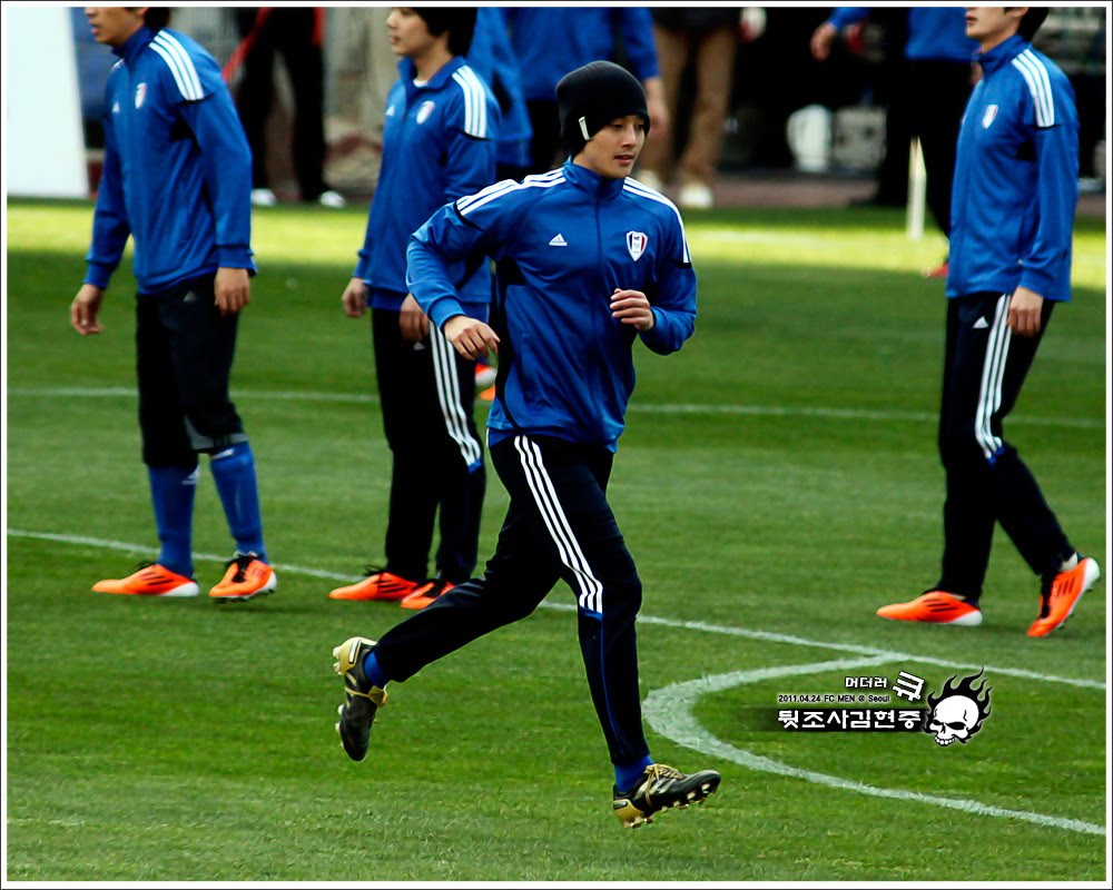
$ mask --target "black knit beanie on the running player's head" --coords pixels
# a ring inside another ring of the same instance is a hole
[[[560,140],[573,158],[615,118],[640,115],[649,134],[646,90],[638,78],[614,62],[589,62],[564,75],[556,85],[556,105]]]

